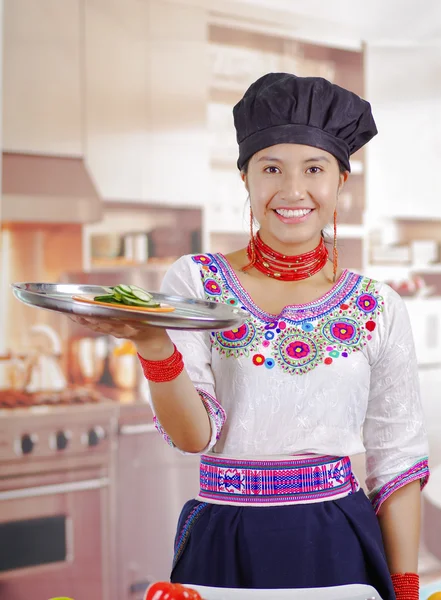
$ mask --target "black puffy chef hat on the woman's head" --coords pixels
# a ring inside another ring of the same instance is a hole
[[[268,73],[233,109],[237,166],[275,144],[326,150],[350,171],[349,157],[377,134],[369,102],[322,77]]]

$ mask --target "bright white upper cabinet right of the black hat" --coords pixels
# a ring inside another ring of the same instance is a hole
[[[441,49],[430,42],[366,47],[366,97],[379,130],[366,147],[373,218],[441,218],[440,68]]]

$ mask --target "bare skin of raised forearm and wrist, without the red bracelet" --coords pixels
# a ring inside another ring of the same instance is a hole
[[[155,339],[135,339],[136,348],[146,360],[164,360],[173,354],[173,342],[164,329]],[[149,382],[156,418],[173,444],[183,452],[198,453],[211,439],[207,410],[187,371],[164,383]]]

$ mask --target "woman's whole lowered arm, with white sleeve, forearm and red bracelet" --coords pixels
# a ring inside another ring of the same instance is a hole
[[[363,427],[366,484],[378,515],[397,600],[418,600],[420,494],[429,477],[418,365],[403,300],[383,287]]]

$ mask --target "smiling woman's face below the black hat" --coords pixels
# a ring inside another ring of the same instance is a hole
[[[242,178],[263,241],[286,253],[287,246],[296,254],[315,248],[347,177],[332,154],[312,146],[278,144],[254,154]]]

